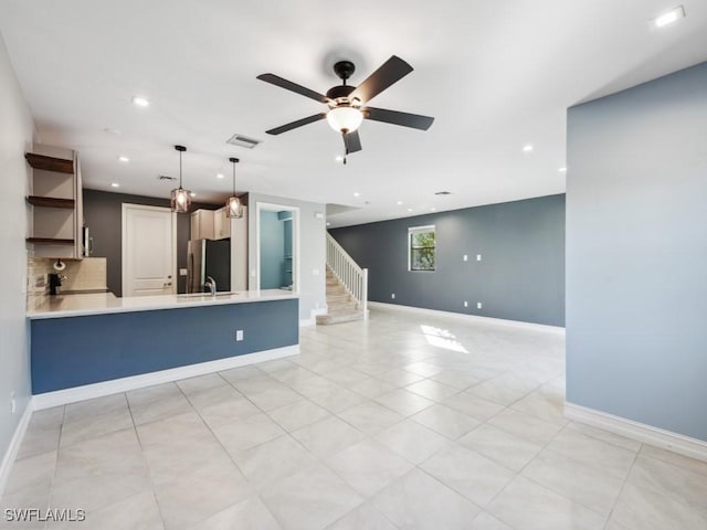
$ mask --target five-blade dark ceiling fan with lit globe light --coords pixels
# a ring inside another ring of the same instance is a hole
[[[334,72],[341,78],[341,84],[333,86],[326,93],[310,91],[302,85],[287,81],[275,74],[262,74],[257,78],[266,83],[279,86],[287,91],[295,92],[305,97],[316,99],[328,105],[326,113],[315,114],[306,118],[292,121],[274,129],[266,130],[268,135],[279,135],[303,125],[313,124],[326,118],[329,125],[344,137],[346,153],[361,150],[361,140],[358,135],[358,127],[363,119],[384,121],[387,124],[401,125],[413,129],[428,130],[434,118],[421,116],[419,114],[400,113],[386,108],[369,107],[367,103],[383,92],[386,88],[397,83],[410,72],[412,66],[402,59],[393,55],[386,61],[376,72],[366,78],[360,85],[347,85],[347,80],[354,74],[356,66],[350,61],[339,61],[334,65]],[[346,158],[344,159],[346,163]]]

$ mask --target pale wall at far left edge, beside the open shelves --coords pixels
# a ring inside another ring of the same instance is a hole
[[[27,304],[28,208],[24,195],[34,124],[0,36],[0,462],[8,448],[31,394]],[[10,413],[10,392],[15,393],[17,412]],[[0,476],[0,481],[2,477]],[[0,488],[2,484],[0,484]]]

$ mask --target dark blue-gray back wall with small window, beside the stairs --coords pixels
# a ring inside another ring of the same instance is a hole
[[[435,226],[436,269],[410,272],[408,229],[424,225]],[[370,300],[564,326],[563,194],[330,233],[369,269]]]

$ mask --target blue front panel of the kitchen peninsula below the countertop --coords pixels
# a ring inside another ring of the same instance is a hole
[[[235,341],[236,329],[244,340]],[[297,344],[298,300],[36,319],[32,393]]]

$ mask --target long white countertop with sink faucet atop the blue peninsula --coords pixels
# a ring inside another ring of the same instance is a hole
[[[217,306],[297,298],[291,290],[264,289],[220,293],[215,297],[204,294],[135,296],[117,298],[113,293],[87,295],[43,295],[34,297],[27,316],[40,318],[81,317],[110,312],[154,311],[182,307]]]

